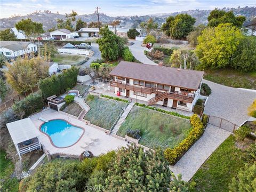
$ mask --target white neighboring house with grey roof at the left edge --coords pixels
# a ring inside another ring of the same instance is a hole
[[[37,46],[32,42],[0,41],[0,54],[8,59],[15,59],[35,51],[37,51]]]

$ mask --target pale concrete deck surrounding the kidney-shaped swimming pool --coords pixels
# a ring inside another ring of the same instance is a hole
[[[112,137],[105,132],[98,130],[92,126],[86,125],[85,122],[80,121],[76,118],[70,117],[68,115],[59,113],[58,111],[47,109],[42,111],[41,113],[30,116],[31,121],[35,124],[36,128],[39,129],[40,125],[43,124],[39,117],[43,117],[50,121],[51,119],[65,119],[71,124],[83,127],[85,132],[82,138],[75,143],[75,145],[67,147],[67,148],[58,148],[54,147],[51,144],[50,139],[44,133],[40,132],[39,141],[42,143],[44,148],[49,151],[50,154],[58,154],[63,153],[67,155],[81,155],[81,153],[85,150],[90,150],[94,156],[98,156],[100,154],[105,154],[110,150],[117,150],[121,147],[126,147],[127,142],[121,139]],[[91,142],[91,139],[97,139],[93,142],[92,145],[84,148],[86,146],[86,142]]]

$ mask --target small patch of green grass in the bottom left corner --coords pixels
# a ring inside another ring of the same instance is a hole
[[[0,161],[0,180],[1,191],[18,191],[19,182],[17,178],[11,178],[11,174],[14,172],[14,165],[10,159],[6,159],[6,152],[1,149],[1,161]]]

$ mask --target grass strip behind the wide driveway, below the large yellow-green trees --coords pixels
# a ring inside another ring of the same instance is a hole
[[[234,69],[205,70],[204,79],[236,88],[256,89],[256,71],[242,73]]]

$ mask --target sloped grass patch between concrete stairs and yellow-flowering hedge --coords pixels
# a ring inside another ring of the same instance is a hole
[[[142,138],[139,143],[150,148],[173,148],[190,131],[187,119],[159,113],[154,110],[134,106],[117,134],[124,137],[128,129],[140,129]]]

